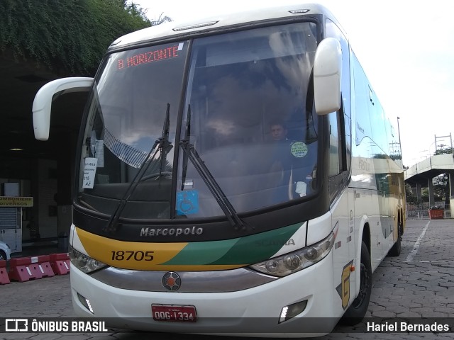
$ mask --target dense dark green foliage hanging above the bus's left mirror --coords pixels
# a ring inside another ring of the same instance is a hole
[[[0,53],[55,74],[93,77],[111,42],[154,24],[123,0],[1,0]]]

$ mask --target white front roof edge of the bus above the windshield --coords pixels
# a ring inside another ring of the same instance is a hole
[[[238,13],[218,13],[207,18],[172,21],[144,28],[116,39],[109,50],[118,50],[164,39],[178,39],[187,35],[209,33],[222,28],[241,26],[246,23],[267,21],[277,18],[295,18],[306,15],[323,14],[336,21],[330,11],[320,4],[293,4],[267,8],[254,8]]]

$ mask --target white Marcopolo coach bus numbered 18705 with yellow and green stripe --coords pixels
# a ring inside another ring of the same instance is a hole
[[[116,328],[314,336],[367,314],[398,256],[398,135],[323,6],[170,22],[115,40],[88,91],[70,232],[80,317]],[[282,138],[271,133],[280,124]]]

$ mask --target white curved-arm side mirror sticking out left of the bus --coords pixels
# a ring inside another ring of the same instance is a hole
[[[37,140],[49,139],[50,111],[55,94],[68,92],[89,91],[92,88],[93,78],[72,77],[50,81],[35,95],[33,101],[33,131]]]

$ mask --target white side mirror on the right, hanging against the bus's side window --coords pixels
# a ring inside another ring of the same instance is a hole
[[[335,38],[321,40],[314,60],[314,103],[318,115],[341,108],[342,49]]]

